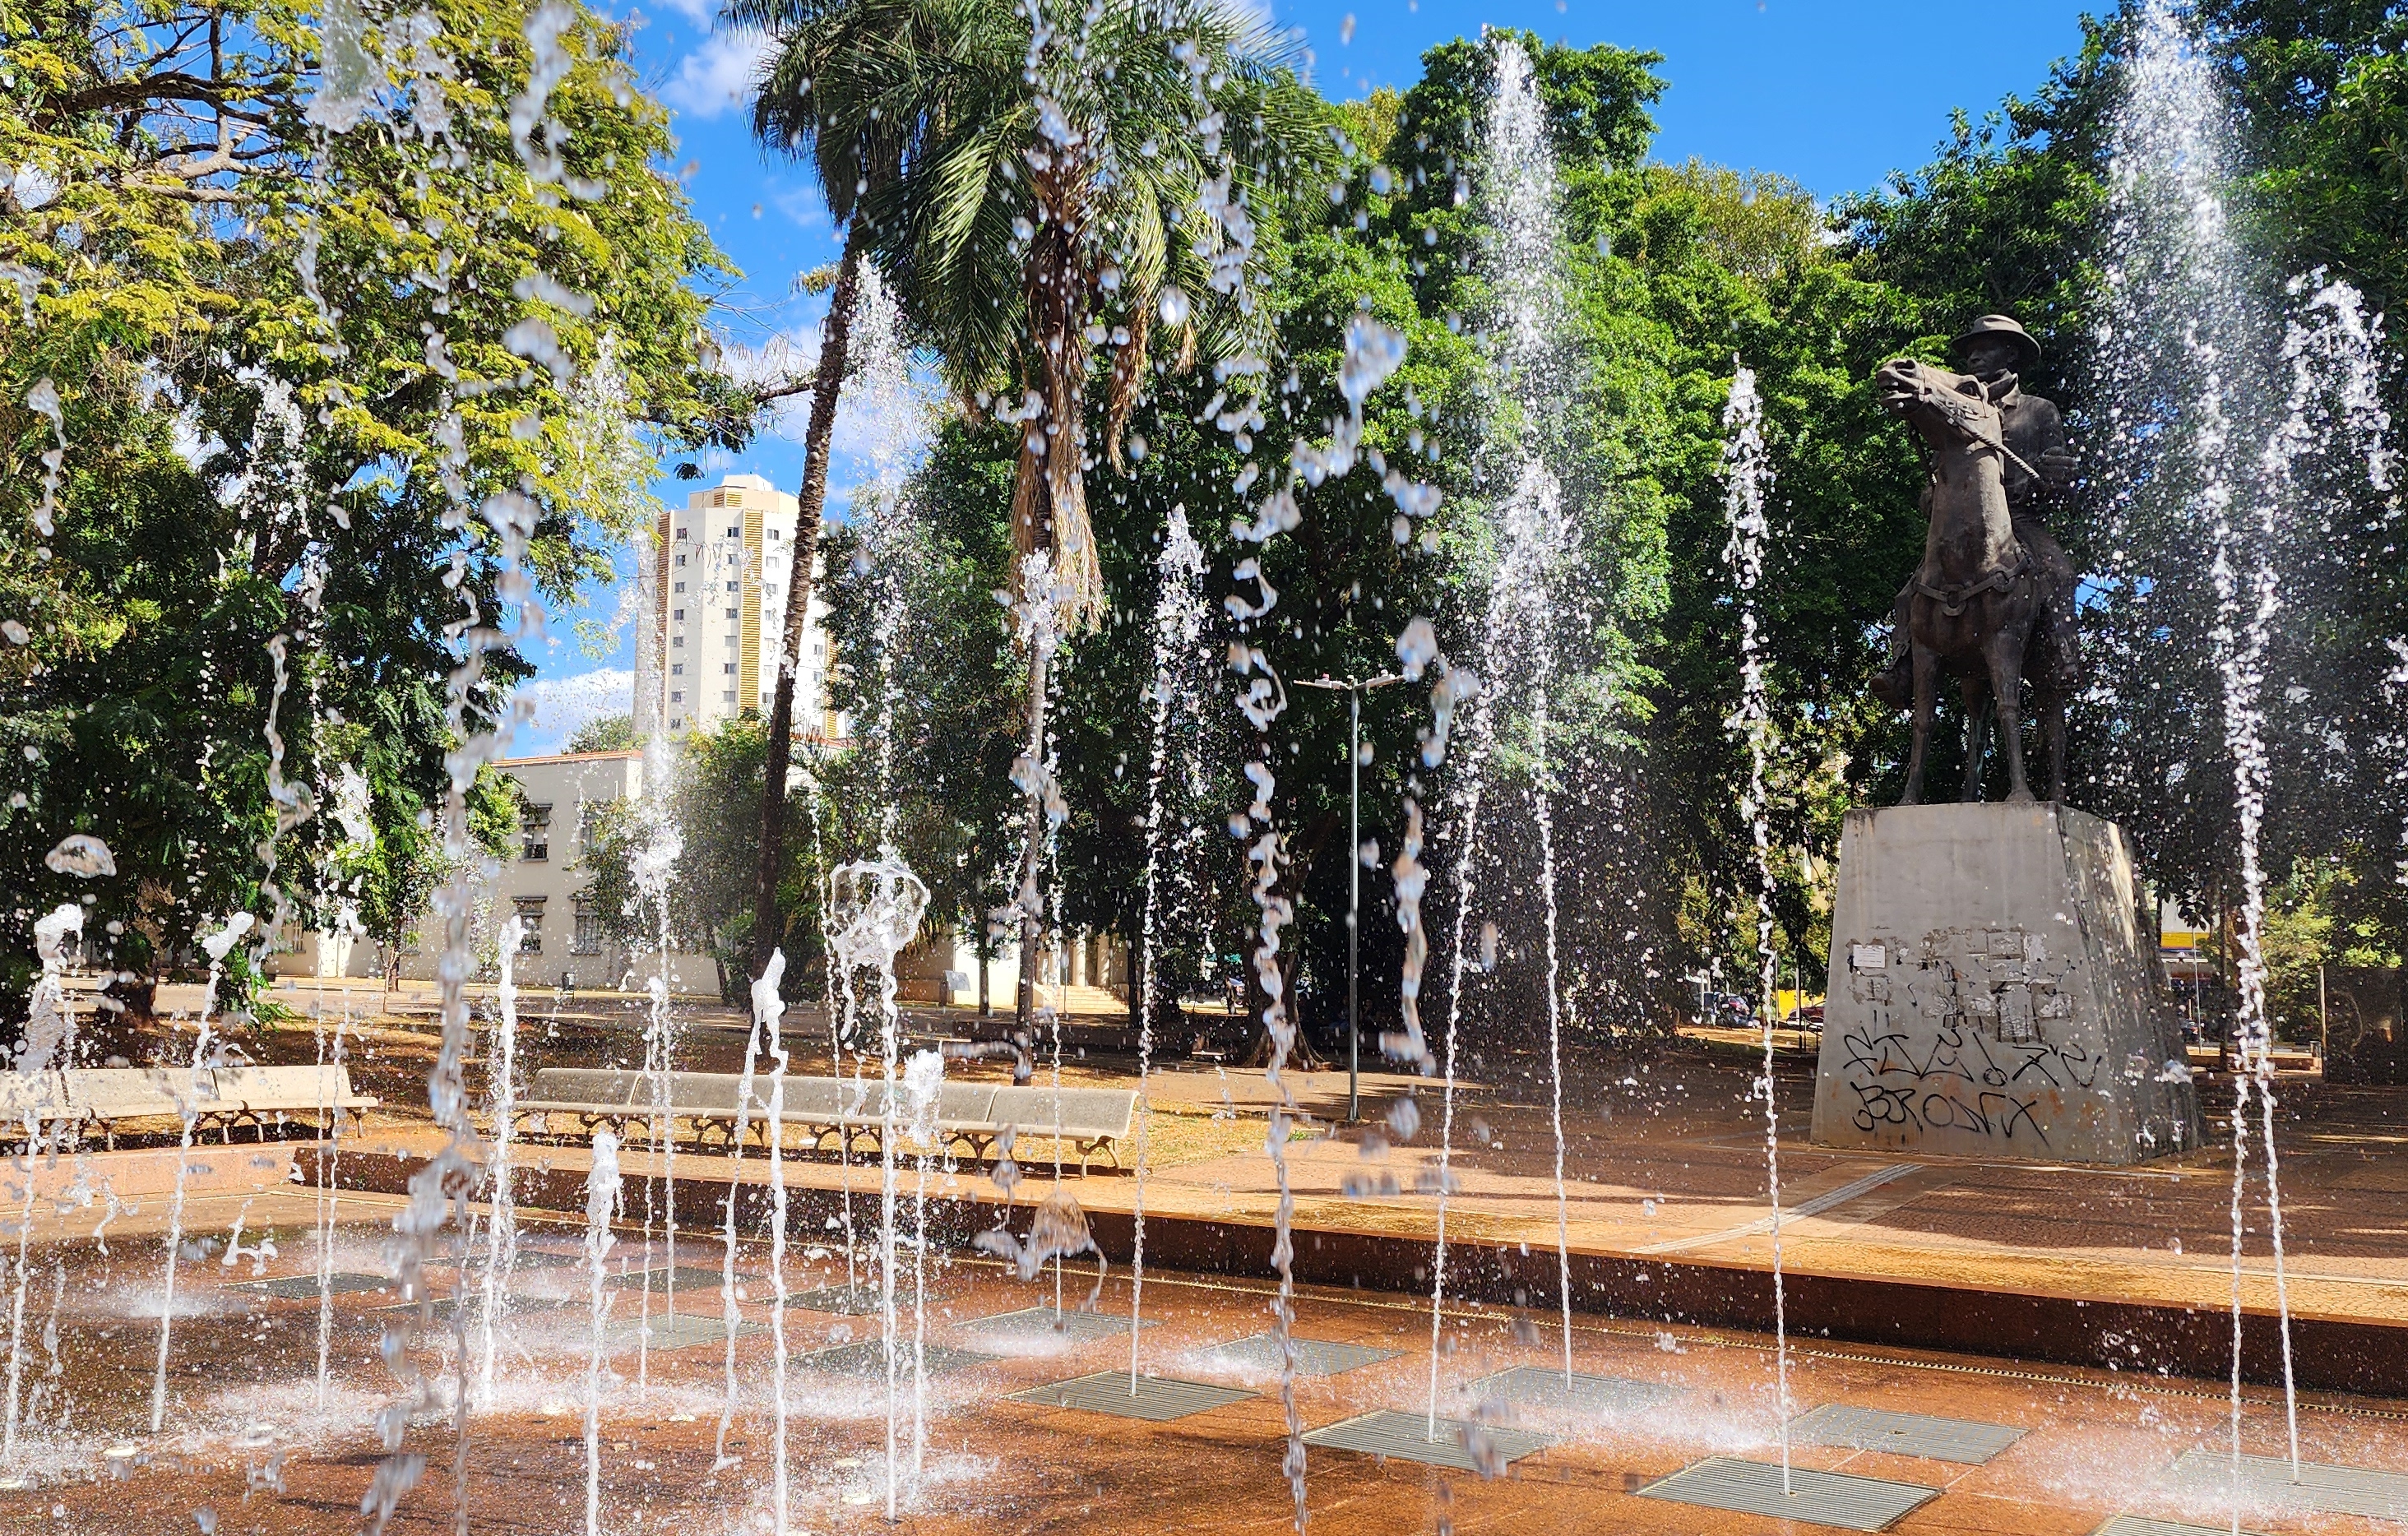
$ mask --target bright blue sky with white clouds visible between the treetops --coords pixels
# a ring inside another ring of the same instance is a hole
[[[1004,5],[1009,0],[997,0]],[[1312,75],[1336,99],[1421,72],[1421,53],[1483,22],[1522,26],[1572,46],[1616,43],[1664,55],[1669,79],[1657,106],[1657,159],[1700,156],[1736,169],[1780,171],[1820,197],[1878,185],[1917,166],[1948,132],[1948,113],[1984,113],[2028,94],[2054,60],[2081,46],[2081,14],[2100,0],[1269,0],[1283,26],[1312,51]],[[645,82],[677,113],[679,164],[691,166],[694,212],[742,267],[725,294],[737,342],[787,337],[814,349],[819,306],[790,284],[836,258],[836,241],[811,178],[783,156],[763,156],[746,132],[744,82],[759,41],[718,34],[713,0],[650,0],[636,10],[636,55]],[[742,455],[710,465],[766,474],[792,489],[802,477],[802,417],[775,424]],[[840,513],[860,479],[860,433],[838,419],[828,510]],[[681,501],[689,484],[665,482]],[[616,607],[590,595],[592,616]],[[588,655],[556,614],[539,660],[537,722],[515,751],[549,751],[592,713],[626,710],[633,645]]]

